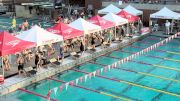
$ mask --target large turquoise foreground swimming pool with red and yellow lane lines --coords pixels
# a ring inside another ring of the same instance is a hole
[[[62,82],[75,80],[162,39],[149,36],[123,49],[34,83],[25,89],[46,96],[49,89],[59,87]],[[180,54],[170,53],[179,53],[179,44],[180,40],[174,39],[100,76],[88,78],[86,82],[79,82],[78,86],[69,86],[67,91],[64,88],[62,92],[58,89],[56,94],[52,93],[51,98],[59,101],[180,101]],[[164,52],[159,50],[164,50]],[[21,90],[7,95],[7,101],[9,98],[14,101],[46,101],[45,98]]]

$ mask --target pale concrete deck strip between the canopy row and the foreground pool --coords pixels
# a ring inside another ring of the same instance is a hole
[[[119,48],[127,46],[127,45],[134,43],[148,35],[149,35],[149,33],[146,33],[146,34],[143,34],[140,36],[134,36],[131,39],[124,39],[122,42],[112,43],[111,46],[109,46],[108,48],[96,47],[96,52],[94,52],[93,54],[86,51],[81,58],[76,59],[76,60],[73,60],[72,57],[65,58],[63,64],[49,65],[47,69],[41,69],[40,71],[37,72],[36,75],[31,76],[31,77],[21,77],[18,75],[10,77],[5,80],[4,84],[0,85],[0,96],[8,94],[10,92],[13,92],[13,91],[17,90],[18,88],[23,88],[32,83],[38,82],[40,80],[44,80],[44,79],[51,77],[57,73],[66,71],[76,65],[80,65],[80,64],[90,61],[94,58],[97,58],[99,56],[102,56],[102,55],[112,52],[114,50],[117,50]]]

